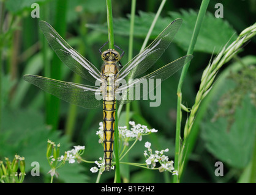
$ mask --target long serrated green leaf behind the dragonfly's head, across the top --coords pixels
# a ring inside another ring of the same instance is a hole
[[[178,44],[185,51],[189,48],[190,39],[197,20],[197,12],[194,10],[181,10],[181,13],[170,12],[170,17],[159,17],[156,26],[152,30],[151,38],[156,38],[171,21],[176,18],[183,19],[183,25],[176,34],[173,42]],[[135,16],[134,37],[145,38],[149,27],[155,17],[154,13],[139,12]],[[113,26],[115,34],[129,36],[130,16],[128,18],[114,18]],[[107,34],[107,23],[105,24],[88,24],[88,27],[99,30]],[[235,30],[222,18],[215,18],[212,13],[207,13],[197,38],[194,51],[207,52],[216,54],[228,41],[232,43],[237,38]]]

